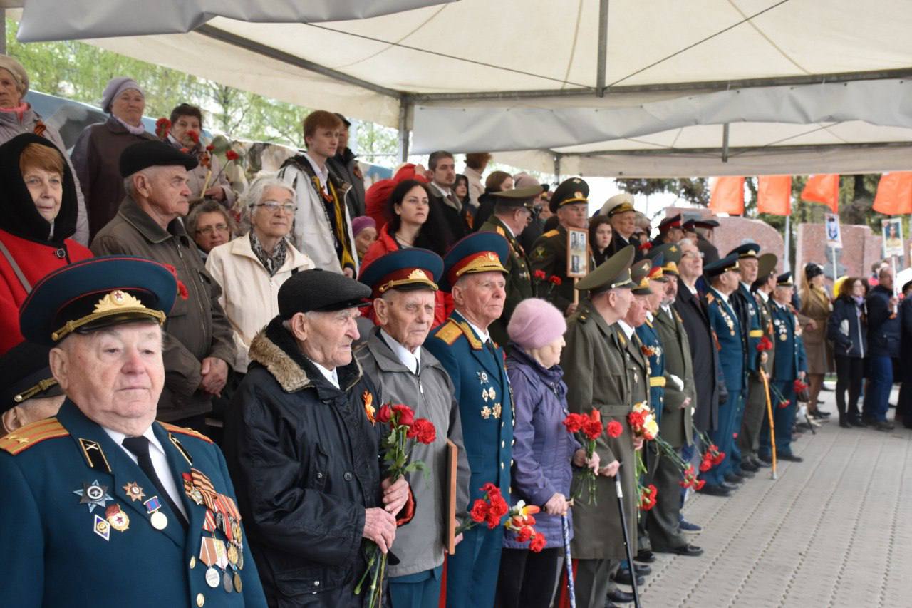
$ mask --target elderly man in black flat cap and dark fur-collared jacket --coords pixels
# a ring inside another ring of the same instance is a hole
[[[288,278],[225,413],[225,456],[270,606],[361,606],[368,548],[388,553],[414,511],[408,482],[384,476],[379,394],[352,356],[368,296],[328,270]]]

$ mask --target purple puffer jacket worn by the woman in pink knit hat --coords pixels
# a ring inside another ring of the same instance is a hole
[[[567,386],[560,365],[544,369],[522,348],[511,345],[506,362],[507,375],[513,388],[513,493],[510,504],[524,500],[527,505],[543,507],[554,492],[570,495],[573,455],[581,446],[567,433],[564,419],[567,412]],[[535,516],[535,530],[544,534],[546,547],[563,547],[561,518],[547,515],[544,510]],[[573,519],[567,515],[570,538],[573,538]],[[526,549],[528,542],[517,542],[515,534],[507,531],[503,546]]]

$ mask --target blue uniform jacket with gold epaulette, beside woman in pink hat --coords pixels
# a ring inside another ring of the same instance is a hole
[[[462,442],[472,471],[469,504],[482,498],[491,482],[510,495],[513,401],[503,368],[503,349],[485,346],[459,312],[454,311],[424,342],[450,374],[462,422]],[[461,508],[461,507],[460,507]]]

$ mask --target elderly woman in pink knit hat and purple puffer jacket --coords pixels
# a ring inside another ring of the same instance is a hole
[[[568,502],[571,463],[587,463],[586,450],[563,424],[569,413],[564,372],[559,365],[565,330],[564,315],[544,299],[524,299],[507,326],[513,347],[506,368],[516,416],[511,504],[522,500],[542,509],[534,516],[534,529],[544,536],[546,544],[541,552],[532,552],[529,540],[521,541],[516,532],[507,530],[497,582],[496,605],[500,608],[551,605],[564,555],[562,515],[567,516],[573,536]],[[588,466],[597,470],[597,455]]]

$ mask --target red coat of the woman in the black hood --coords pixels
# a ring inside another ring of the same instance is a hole
[[[64,246],[57,248],[0,230],[0,241],[16,260],[32,288],[51,270],[92,257],[92,252],[86,247],[68,238]],[[13,267],[4,255],[0,255],[0,354],[23,341],[19,332],[19,306],[26,295],[26,288],[16,277]]]

